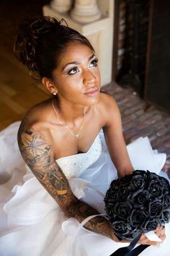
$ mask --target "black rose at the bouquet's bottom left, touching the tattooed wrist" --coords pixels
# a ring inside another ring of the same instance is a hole
[[[115,234],[122,238],[128,237],[128,235],[132,231],[130,225],[128,225],[124,221],[115,221],[115,223],[112,223],[112,228],[114,229]]]

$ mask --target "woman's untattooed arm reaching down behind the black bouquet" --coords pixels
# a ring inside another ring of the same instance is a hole
[[[125,174],[133,172],[133,166],[122,135],[120,111],[112,96],[105,94],[104,97],[106,118],[106,124],[103,127],[104,137],[109,155],[117,168],[119,176],[125,176]]]

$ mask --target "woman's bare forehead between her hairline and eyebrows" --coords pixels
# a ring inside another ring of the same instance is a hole
[[[92,54],[94,54],[94,52],[89,46],[82,43],[71,43],[62,54],[59,66],[66,65],[72,61],[86,61]]]

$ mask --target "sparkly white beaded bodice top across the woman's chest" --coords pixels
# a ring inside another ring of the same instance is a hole
[[[86,153],[79,153],[76,155],[69,155],[63,158],[58,158],[56,162],[61,167],[66,177],[79,177],[81,173],[91,166],[102,152],[102,142],[100,136],[97,135],[91,148]]]

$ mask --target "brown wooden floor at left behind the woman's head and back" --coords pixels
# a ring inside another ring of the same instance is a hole
[[[0,129],[21,120],[30,106],[49,97],[13,53],[19,23],[24,17],[41,15],[44,3],[42,0],[0,2]]]

